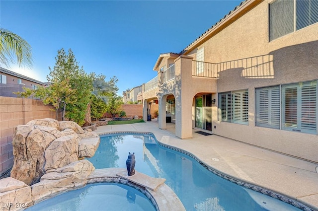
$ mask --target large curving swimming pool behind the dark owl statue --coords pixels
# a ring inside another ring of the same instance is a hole
[[[135,152],[137,171],[165,178],[187,211],[300,211],[211,173],[190,156],[160,146],[150,134],[101,136],[95,155],[88,160],[96,169],[126,168],[128,152]]]

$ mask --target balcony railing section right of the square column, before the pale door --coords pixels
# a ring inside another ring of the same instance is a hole
[[[193,60],[192,76],[218,78],[217,64]]]

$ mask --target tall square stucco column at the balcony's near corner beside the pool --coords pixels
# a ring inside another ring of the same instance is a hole
[[[192,138],[192,57],[180,56],[175,63],[178,90],[175,95],[175,135],[181,139]]]

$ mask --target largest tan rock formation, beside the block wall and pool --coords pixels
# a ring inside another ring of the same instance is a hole
[[[98,144],[97,134],[83,131],[75,122],[32,120],[14,131],[11,177],[35,184],[50,169],[93,156]]]

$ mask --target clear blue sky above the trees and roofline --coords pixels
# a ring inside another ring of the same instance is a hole
[[[179,53],[240,0],[1,0],[0,27],[24,38],[33,68],[9,70],[47,81],[57,51],[72,49],[86,72],[117,76],[118,94],[156,76],[160,53]]]

